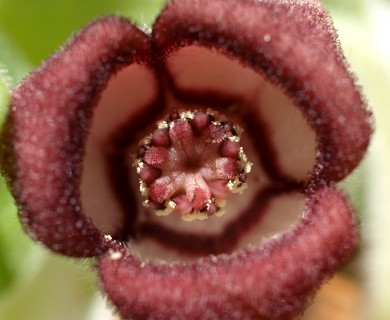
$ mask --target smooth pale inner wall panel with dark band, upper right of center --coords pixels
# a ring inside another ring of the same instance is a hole
[[[186,104],[216,108],[218,99],[228,100],[220,112],[233,116],[243,137],[253,140],[270,178],[308,179],[315,165],[315,132],[281,88],[237,59],[195,45],[172,52],[165,70],[171,89]]]

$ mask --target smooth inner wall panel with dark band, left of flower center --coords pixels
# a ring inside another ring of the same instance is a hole
[[[155,114],[163,106],[160,96],[154,71],[134,63],[111,77],[94,110],[83,159],[81,200],[84,214],[114,237],[128,236],[137,218],[139,182],[131,155],[141,139],[139,131],[158,119]]]

